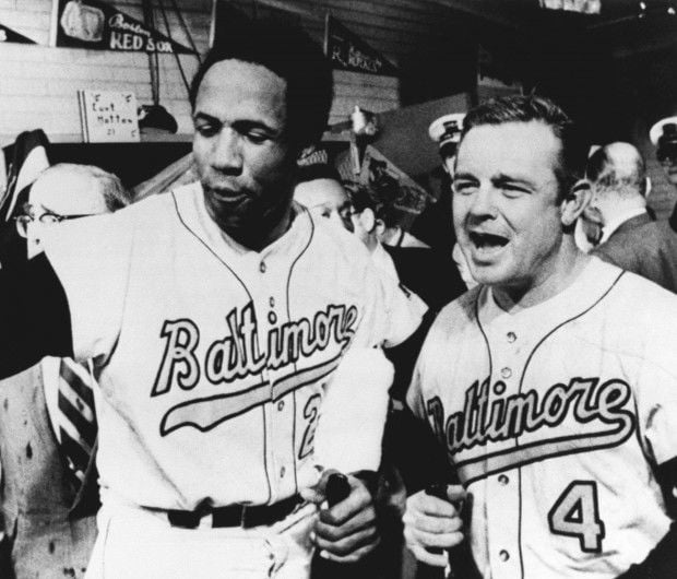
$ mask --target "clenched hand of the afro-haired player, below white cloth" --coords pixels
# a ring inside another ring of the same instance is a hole
[[[324,471],[320,482],[301,492],[311,503],[324,501],[329,475]],[[364,482],[347,475],[351,494],[331,508],[322,508],[314,525],[313,542],[324,558],[341,563],[355,563],[371,553],[379,544],[373,499]]]

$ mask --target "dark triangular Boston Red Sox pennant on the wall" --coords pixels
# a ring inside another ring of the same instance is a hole
[[[97,0],[57,0],[57,46],[135,52],[194,54],[187,46]]]

